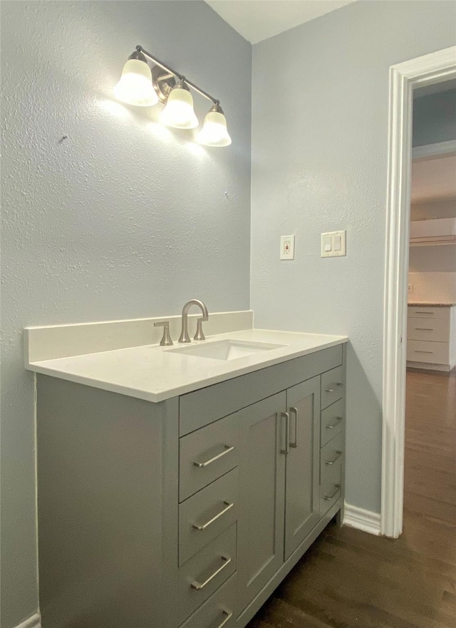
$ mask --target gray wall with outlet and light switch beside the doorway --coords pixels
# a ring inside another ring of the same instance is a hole
[[[349,503],[380,510],[388,71],[455,41],[447,1],[356,2],[254,46],[252,309],[348,334]],[[278,97],[278,95],[281,95]],[[347,230],[347,257],[320,257]],[[296,233],[294,262],[279,236]]]

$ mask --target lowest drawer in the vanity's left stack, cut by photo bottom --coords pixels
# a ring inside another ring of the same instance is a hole
[[[232,575],[180,628],[234,627],[236,595],[236,575]]]

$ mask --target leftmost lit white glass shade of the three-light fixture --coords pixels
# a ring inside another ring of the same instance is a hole
[[[120,81],[114,88],[115,98],[128,105],[150,107],[158,102],[152,87],[150,67],[140,59],[128,59]]]

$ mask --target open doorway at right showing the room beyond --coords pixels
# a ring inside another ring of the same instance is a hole
[[[406,357],[405,537],[415,546],[427,533],[445,560],[456,525],[456,81],[413,93]]]

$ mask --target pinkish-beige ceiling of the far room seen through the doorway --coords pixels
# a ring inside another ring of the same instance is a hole
[[[456,156],[413,162],[412,202],[455,197]]]

